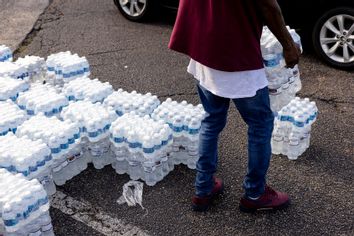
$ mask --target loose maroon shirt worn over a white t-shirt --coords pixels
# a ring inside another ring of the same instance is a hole
[[[168,47],[221,71],[263,68],[257,0],[180,0]]]

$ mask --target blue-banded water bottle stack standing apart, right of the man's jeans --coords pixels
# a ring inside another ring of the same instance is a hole
[[[296,97],[275,118],[272,152],[296,160],[310,146],[311,126],[318,109],[308,98]]]

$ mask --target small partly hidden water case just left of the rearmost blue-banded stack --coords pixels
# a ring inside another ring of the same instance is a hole
[[[25,56],[18,58],[15,64],[26,68],[31,82],[43,82],[45,80],[47,68],[44,58],[37,56]]]

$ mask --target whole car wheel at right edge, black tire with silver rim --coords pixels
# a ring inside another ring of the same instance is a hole
[[[316,53],[324,62],[333,67],[353,70],[353,31],[354,9],[344,7],[326,12],[316,22],[312,33]]]

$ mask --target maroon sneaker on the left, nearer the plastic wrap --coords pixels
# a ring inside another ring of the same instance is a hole
[[[192,209],[194,211],[207,211],[213,200],[224,192],[224,183],[221,179],[214,177],[214,188],[210,194],[205,197],[194,196],[192,198]]]

